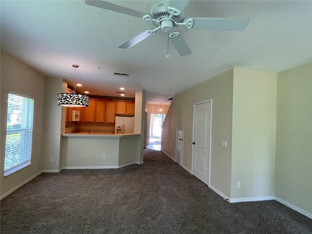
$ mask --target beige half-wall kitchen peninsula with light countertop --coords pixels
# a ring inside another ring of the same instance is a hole
[[[140,134],[62,134],[63,169],[121,168],[140,161]]]

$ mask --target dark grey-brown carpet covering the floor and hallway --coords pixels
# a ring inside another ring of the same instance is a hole
[[[160,151],[120,169],[43,173],[1,200],[1,234],[311,234],[277,201],[229,203]]]

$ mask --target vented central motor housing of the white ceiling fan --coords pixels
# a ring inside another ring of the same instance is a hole
[[[175,22],[183,22],[184,16],[182,13],[180,15],[173,15],[172,20],[168,20],[169,16],[171,15],[167,7],[169,6],[169,1],[164,0],[157,2],[155,5],[151,8],[151,15],[154,19],[152,19],[153,24],[156,27],[161,26],[161,30],[165,32],[171,31],[171,29],[177,27],[178,25],[175,24]]]

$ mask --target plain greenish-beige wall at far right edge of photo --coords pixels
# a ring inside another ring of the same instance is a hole
[[[312,63],[277,74],[275,196],[312,217]]]

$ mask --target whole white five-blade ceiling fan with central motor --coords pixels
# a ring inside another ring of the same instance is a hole
[[[174,31],[174,28],[184,25],[192,29],[210,29],[226,31],[243,31],[249,23],[249,19],[230,19],[230,18],[187,18],[183,16],[183,11],[190,0],[162,0],[154,4],[151,13],[144,13],[127,7],[119,6],[102,0],[85,0],[85,4],[103,8],[110,11],[123,13],[126,15],[151,20],[156,26],[154,29],[147,29],[132,39],[119,45],[119,48],[127,49],[143,39],[155,34],[158,29],[169,33],[169,38],[175,46],[180,56],[191,54],[191,50],[183,39],[182,35]]]

